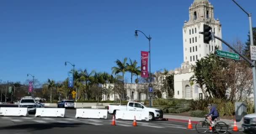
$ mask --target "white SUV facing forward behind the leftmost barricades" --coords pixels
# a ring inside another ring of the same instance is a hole
[[[34,104],[35,99],[30,96],[27,96],[21,98],[18,107],[27,108],[28,112],[35,112],[35,108],[33,108]]]

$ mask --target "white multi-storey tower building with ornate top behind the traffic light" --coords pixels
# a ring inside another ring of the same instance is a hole
[[[197,85],[190,85],[189,78],[194,74],[191,70],[197,59],[208,56],[215,51],[215,46],[222,49],[222,43],[213,39],[209,44],[203,42],[203,25],[212,27],[216,36],[221,38],[221,24],[214,19],[213,5],[208,0],[194,0],[189,7],[189,21],[183,26],[183,59],[180,68],[174,70],[174,97],[195,99],[203,97]]]

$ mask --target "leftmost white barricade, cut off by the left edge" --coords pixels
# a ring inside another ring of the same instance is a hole
[[[0,108],[0,116],[28,116],[27,108]]]

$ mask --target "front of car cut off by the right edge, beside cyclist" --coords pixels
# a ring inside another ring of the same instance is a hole
[[[243,117],[242,127],[245,133],[255,134],[256,133],[256,113],[245,115]]]

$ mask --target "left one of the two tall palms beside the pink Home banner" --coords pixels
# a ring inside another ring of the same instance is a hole
[[[112,70],[112,74],[118,74],[120,72],[122,72],[123,74],[123,92],[125,90],[125,79],[124,79],[124,75],[125,75],[125,72],[127,71],[127,65],[126,65],[126,61],[127,61],[127,58],[125,57],[123,59],[123,62],[121,62],[119,59],[117,59],[115,61],[115,63],[117,64],[117,67],[112,67],[111,70]],[[124,93],[122,95],[122,100],[124,100]]]

